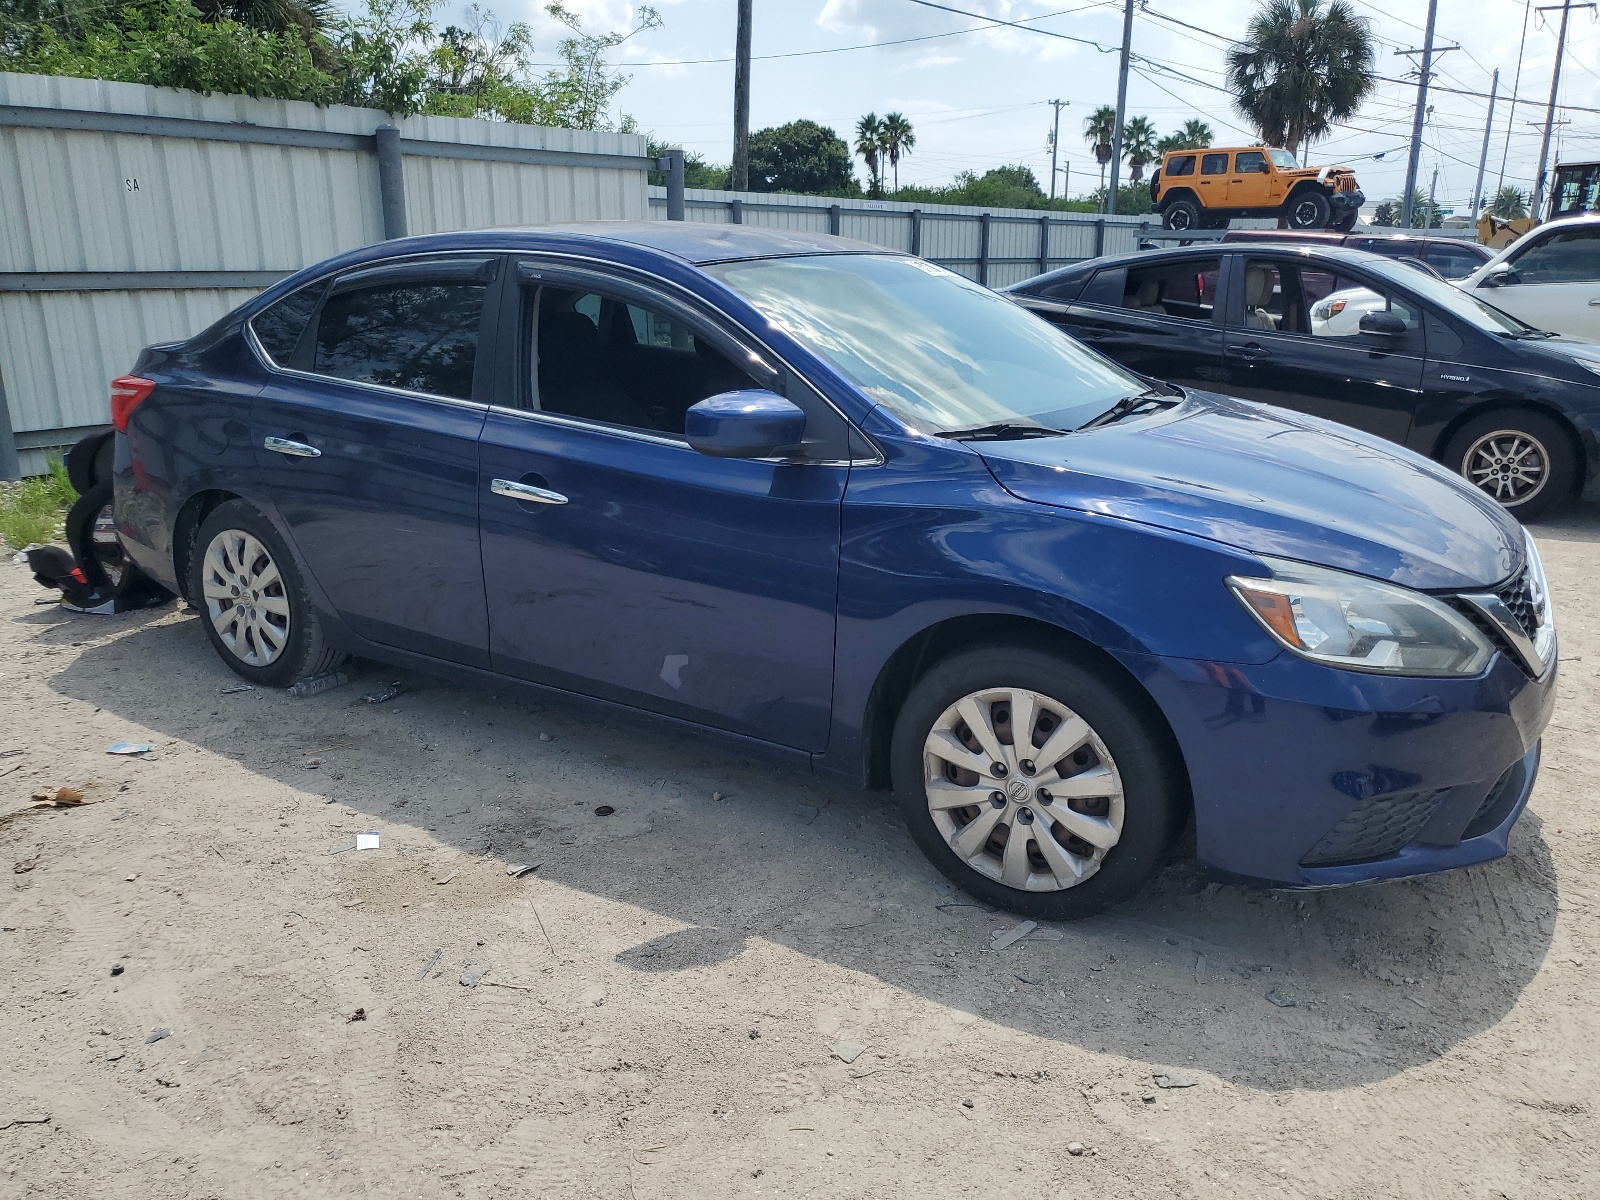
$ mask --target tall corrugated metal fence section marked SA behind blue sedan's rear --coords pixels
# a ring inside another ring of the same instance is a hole
[[[389,125],[371,109],[0,72],[0,478],[18,451],[38,470],[40,448],[104,424],[106,384],[142,346],[330,254],[646,213],[642,136]]]

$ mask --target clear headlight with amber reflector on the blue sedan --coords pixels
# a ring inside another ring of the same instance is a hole
[[[1390,675],[1477,675],[1494,648],[1456,610],[1410,587],[1262,558],[1270,579],[1227,586],[1274,638],[1314,662]]]

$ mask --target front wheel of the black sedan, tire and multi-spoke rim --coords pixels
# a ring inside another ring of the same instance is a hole
[[[1445,466],[1517,520],[1538,520],[1573,493],[1578,453],[1544,413],[1509,408],[1474,418],[1445,446]]]

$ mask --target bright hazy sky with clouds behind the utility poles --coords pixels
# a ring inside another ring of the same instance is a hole
[[[754,0],[750,128],[805,117],[850,141],[862,114],[902,112],[915,128],[917,144],[901,162],[901,184],[942,184],[963,170],[982,173],[1022,163],[1048,189],[1048,101],[1062,99],[1069,107],[1061,110],[1059,162],[1070,171],[1064,187],[1078,195],[1098,186],[1099,168],[1083,139],[1083,120],[1099,104],[1117,99],[1122,2],[939,2],[1029,29],[995,26],[915,0]],[[638,6],[624,0],[566,3],[595,32],[629,29],[637,19]],[[1427,5],[1350,3],[1371,21],[1378,74],[1394,82],[1381,82],[1350,122],[1314,144],[1310,158],[1354,166],[1376,202],[1398,195],[1405,184],[1421,56],[1397,51],[1422,45]],[[1435,59],[1434,86],[1454,91],[1430,91],[1418,187],[1426,192],[1437,168],[1435,195],[1445,206],[1466,211],[1470,205],[1494,69],[1501,72],[1501,99],[1485,190],[1493,190],[1502,158],[1507,184],[1525,190],[1533,184],[1560,19],[1558,11],[1539,13],[1541,3],[1552,0],[1438,3],[1435,45],[1461,48]],[[501,21],[528,21],[536,61],[555,62],[560,27],[542,13],[542,0],[488,0],[486,6]],[[656,0],[654,8],[661,27],[611,54],[630,77],[618,94],[616,112],[632,115],[662,142],[726,163],[733,154],[734,0]],[[1218,144],[1253,141],[1222,85],[1229,38],[1245,35],[1254,10],[1256,0],[1142,0],[1133,22],[1128,115],[1147,115],[1160,133],[1200,117]],[[1600,158],[1600,24],[1594,13],[1574,8],[1571,14],[1560,90],[1560,104],[1571,107],[1557,114],[1570,123],[1557,126],[1552,162]],[[1520,102],[1514,114],[1509,101],[1518,48]],[[859,160],[858,174],[864,176]]]

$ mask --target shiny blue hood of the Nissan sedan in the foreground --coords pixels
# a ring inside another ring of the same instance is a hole
[[[1522,526],[1443,467],[1326,421],[1205,392],[1085,434],[976,442],[1014,496],[1424,590],[1522,568]]]

